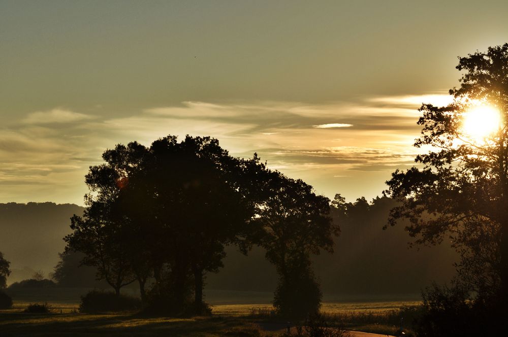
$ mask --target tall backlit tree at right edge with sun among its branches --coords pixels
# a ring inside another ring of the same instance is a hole
[[[446,107],[423,104],[420,167],[396,171],[386,193],[401,201],[417,244],[450,237],[462,281],[484,298],[508,300],[508,44],[459,57],[460,86]]]

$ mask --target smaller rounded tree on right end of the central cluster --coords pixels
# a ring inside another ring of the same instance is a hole
[[[316,314],[321,289],[310,255],[333,252],[333,235],[338,235],[339,227],[330,217],[330,200],[314,194],[302,180],[279,172],[266,172],[259,184],[263,198],[257,209],[258,242],[279,274],[274,306],[283,316]]]

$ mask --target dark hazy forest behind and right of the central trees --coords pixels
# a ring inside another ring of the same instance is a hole
[[[408,248],[411,238],[403,224],[383,230],[390,209],[396,205],[388,197],[377,197],[370,203],[362,197],[345,203],[344,212],[332,207],[341,229],[335,253],[313,258],[325,294],[420,293],[433,281],[446,283],[453,277],[458,254],[449,243]],[[220,273],[208,276],[208,288],[272,291],[275,287],[277,276],[262,249],[243,256],[230,247],[224,264]]]

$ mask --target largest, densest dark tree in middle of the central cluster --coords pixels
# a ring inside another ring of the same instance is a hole
[[[249,199],[242,191],[243,160],[232,158],[209,137],[176,137],[155,141],[149,159],[125,189],[125,205],[141,203],[126,218],[152,226],[150,243],[156,288],[173,294],[173,306],[185,306],[189,276],[194,280],[194,310],[203,310],[206,272],[223,264],[226,244],[242,241],[252,217]],[[257,160],[257,159],[253,159]],[[146,221],[146,220],[145,220]],[[164,266],[169,273],[162,282]],[[168,289],[169,288],[169,289]]]

